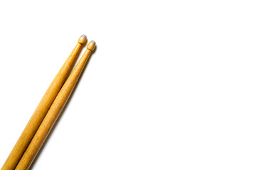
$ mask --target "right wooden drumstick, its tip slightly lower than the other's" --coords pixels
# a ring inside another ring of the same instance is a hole
[[[31,166],[33,159],[35,159],[36,154],[43,145],[43,142],[46,140],[46,137],[48,136],[51,128],[53,128],[53,125],[55,121],[58,119],[60,112],[63,110],[65,103],[68,101],[68,98],[72,93],[75,84],[78,81],[78,78],[80,77],[82,69],[83,67],[85,67],[85,63],[87,62],[87,59],[92,50],[94,50],[94,48],[95,42],[91,41],[87,45],[87,50],[85,51],[84,55],[82,55],[78,64],[75,66],[75,69],[73,69],[67,81],[65,81],[65,84],[60,89],[60,92],[53,101],[52,106],[50,106],[50,109],[46,114],[46,117],[43,119],[41,125],[36,131],[36,134],[34,135],[33,139],[28,145],[28,148],[21,157],[21,160],[18,162],[16,170],[25,170]]]

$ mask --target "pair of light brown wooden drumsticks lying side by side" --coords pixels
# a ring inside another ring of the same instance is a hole
[[[48,87],[46,94],[44,94],[38,104],[36,111],[28,121],[26,128],[23,130],[1,170],[25,170],[31,166],[33,159],[35,159],[36,154],[46,140],[51,128],[53,128],[60,112],[63,110],[65,103],[68,101],[90,53],[95,49],[95,42],[89,42],[85,53],[68,76],[75,63],[76,55],[78,55],[86,41],[87,37],[85,35],[80,36],[78,44],[75,45],[74,50]]]

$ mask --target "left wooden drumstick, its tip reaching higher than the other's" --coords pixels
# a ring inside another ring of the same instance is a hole
[[[61,86],[63,86],[65,80],[67,79],[70,69],[72,69],[75,62],[76,55],[78,54],[82,44],[84,44],[86,40],[87,38],[85,35],[80,36],[78,44],[75,45],[74,50],[71,52],[70,56],[63,64],[63,67],[61,67],[60,71],[53,79],[53,82],[48,87],[46,94],[44,94],[43,98],[38,104],[36,111],[33,113],[31,119],[28,121],[26,128],[23,130],[21,136],[18,138],[14,149],[12,149],[1,170],[15,169],[18,161],[21,159],[22,154],[28,147],[29,142],[31,142],[33,135],[35,135],[36,130],[38,130],[39,125],[41,124],[43,118],[48,112],[50,105],[53,103],[55,97],[60,91]]]

